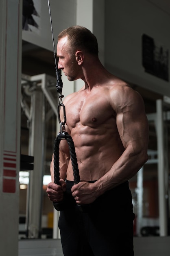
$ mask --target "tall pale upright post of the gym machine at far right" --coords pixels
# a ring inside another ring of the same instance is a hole
[[[159,193],[159,226],[160,236],[167,236],[168,223],[166,211],[166,179],[165,179],[165,144],[163,128],[163,104],[162,100],[156,101],[157,106],[157,148],[158,148],[158,193]],[[168,180],[168,178],[167,178]]]

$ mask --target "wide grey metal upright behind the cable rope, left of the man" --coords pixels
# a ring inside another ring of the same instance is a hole
[[[31,144],[29,155],[34,156],[34,170],[30,171],[28,238],[40,238],[42,215],[42,186],[44,173],[44,95],[36,88],[31,97]]]

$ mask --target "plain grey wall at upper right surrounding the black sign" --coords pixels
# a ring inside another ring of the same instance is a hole
[[[144,71],[142,34],[170,49],[170,15],[147,0],[105,1],[107,69],[128,82],[170,97],[170,83]]]

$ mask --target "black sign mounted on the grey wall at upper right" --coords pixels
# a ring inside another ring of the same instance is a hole
[[[156,43],[150,36],[143,34],[142,65],[145,72],[169,81],[168,60],[168,49]]]

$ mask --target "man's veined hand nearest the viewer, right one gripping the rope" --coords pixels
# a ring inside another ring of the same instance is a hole
[[[72,196],[77,204],[90,204],[97,198],[94,191],[94,183],[79,182],[72,186]]]

